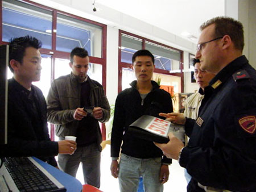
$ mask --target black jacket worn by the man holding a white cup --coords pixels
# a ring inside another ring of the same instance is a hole
[[[5,156],[35,156],[53,166],[57,166],[54,156],[59,148],[49,139],[46,100],[42,91],[32,85],[34,101],[37,103],[37,116],[31,110],[32,102],[28,90],[14,78],[8,84],[8,145]],[[36,119],[36,120],[35,120]]]

